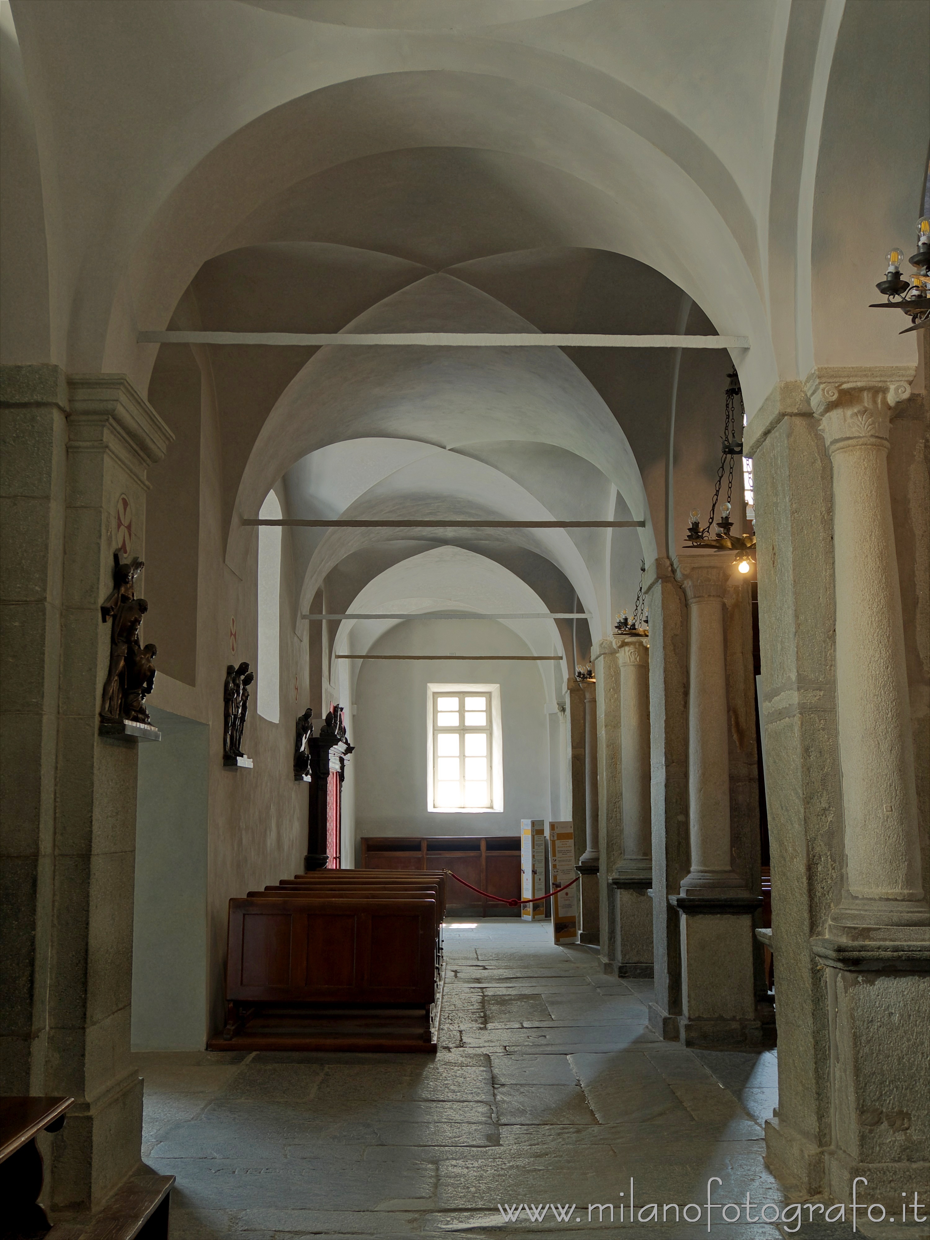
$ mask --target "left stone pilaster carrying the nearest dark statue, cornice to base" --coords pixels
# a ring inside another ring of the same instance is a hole
[[[129,1061],[136,749],[98,735],[117,507],[144,557],[148,465],[171,432],[122,374],[68,377],[62,675],[45,1086],[76,1099],[52,1142],[52,1207],[97,1205],[139,1162]],[[141,594],[143,590],[139,590]]]

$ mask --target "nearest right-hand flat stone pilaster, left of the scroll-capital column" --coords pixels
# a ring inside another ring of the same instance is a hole
[[[831,1140],[823,970],[842,817],[833,689],[830,460],[804,384],[777,384],[744,434],[755,481],[765,791],[777,961],[779,1114],[766,1159],[807,1193],[823,1188]],[[816,520],[812,515],[816,513]],[[799,858],[806,864],[800,866]]]

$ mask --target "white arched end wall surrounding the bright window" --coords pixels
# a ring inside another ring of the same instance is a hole
[[[531,655],[505,625],[489,620],[412,620],[391,629],[370,653]],[[427,684],[501,686],[503,810],[430,813],[427,810]],[[362,663],[356,684],[352,755],[356,835],[508,836],[521,818],[549,816],[549,735],[537,663]]]

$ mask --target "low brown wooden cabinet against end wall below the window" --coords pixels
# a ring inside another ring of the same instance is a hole
[[[363,836],[362,869],[450,869],[482,892],[520,899],[520,836]],[[451,879],[449,916],[520,916]]]

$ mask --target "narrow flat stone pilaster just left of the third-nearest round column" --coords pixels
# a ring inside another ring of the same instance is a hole
[[[622,856],[622,794],[620,789],[620,662],[615,637],[591,651],[598,703],[598,852],[600,868],[600,962],[616,968],[616,908],[610,874]]]

